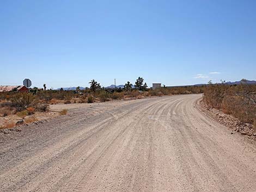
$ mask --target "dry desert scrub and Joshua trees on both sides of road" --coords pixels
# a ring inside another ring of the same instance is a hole
[[[246,79],[241,85],[227,85],[224,82],[203,86],[163,86],[157,89],[147,88],[142,77],[138,77],[135,88],[127,82],[124,88],[104,89],[96,80],[91,80],[90,88],[84,90],[77,86],[76,90],[34,89],[31,92],[1,92],[0,116],[16,114],[22,118],[35,112],[46,112],[49,104],[56,103],[93,103],[124,98],[143,98],[147,96],[164,96],[176,94],[199,94],[204,92],[205,102],[224,113],[232,114],[243,122],[253,123],[256,127],[255,100],[256,85],[248,85]],[[65,110],[61,113],[64,114]]]

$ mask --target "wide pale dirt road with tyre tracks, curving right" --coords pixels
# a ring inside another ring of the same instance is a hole
[[[256,191],[256,147],[201,95],[72,106],[0,135],[0,191]]]

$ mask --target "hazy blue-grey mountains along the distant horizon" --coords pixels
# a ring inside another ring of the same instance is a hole
[[[225,84],[229,84],[229,85],[239,85],[241,84],[243,81],[239,80],[237,82],[225,82]],[[256,80],[246,80],[247,84],[256,84]],[[202,86],[202,85],[207,85],[207,84],[195,84],[195,85],[182,85],[182,86]],[[106,86],[105,89],[114,89],[114,88],[124,88],[124,85],[110,85],[110,86]],[[168,86],[168,87],[175,87],[175,86]],[[132,85],[132,88],[135,88],[134,85]],[[58,88],[57,90],[60,90],[61,88]],[[84,88],[83,86],[80,86],[80,90],[84,90],[86,88]],[[73,91],[76,90],[76,86],[71,86],[69,88],[63,88],[63,90],[65,91]]]

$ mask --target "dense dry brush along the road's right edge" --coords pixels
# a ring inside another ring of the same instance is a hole
[[[256,100],[252,93],[255,91],[256,85],[210,84],[205,89],[204,101],[209,106],[221,109],[242,122],[254,123]]]

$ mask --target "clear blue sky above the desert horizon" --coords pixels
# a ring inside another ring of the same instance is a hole
[[[0,85],[256,80],[256,1],[0,1]]]

